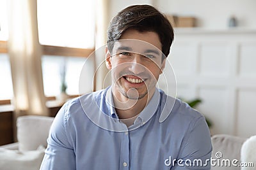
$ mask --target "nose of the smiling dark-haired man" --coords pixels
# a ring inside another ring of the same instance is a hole
[[[132,71],[134,74],[140,74],[145,71],[145,66],[143,66],[143,58],[140,54],[134,53],[133,60],[129,66],[129,71]]]

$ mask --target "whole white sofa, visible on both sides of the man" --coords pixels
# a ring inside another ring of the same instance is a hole
[[[4,145],[0,148],[0,169],[15,169],[17,167],[16,164],[19,164],[18,169],[39,169],[40,162],[44,157],[44,149],[47,146],[47,136],[49,134],[49,129],[51,127],[52,121],[54,118],[52,117],[42,117],[42,116],[24,116],[19,117],[17,119],[17,139],[18,143],[13,143],[10,145]],[[229,136],[227,134],[218,134],[212,136],[212,159],[216,159],[216,166],[212,166],[213,170],[218,169],[240,169],[241,167],[234,166],[221,166],[221,164],[217,164],[218,161],[221,162],[223,159],[229,159],[230,161],[237,159],[241,162],[241,147],[246,141],[244,138],[238,138],[236,136]],[[255,139],[256,143],[256,139]],[[248,150],[252,144],[244,146]],[[38,148],[39,147],[39,148]],[[10,153],[12,152],[12,153]],[[13,153],[15,152],[15,153]],[[245,149],[243,152],[246,152]],[[254,148],[254,153],[256,153],[256,145]],[[1,157],[2,153],[2,157]],[[17,154],[18,153],[18,154]],[[5,155],[4,155],[5,154]],[[8,160],[4,160],[6,154],[11,155]],[[30,155],[29,155],[30,154]],[[34,154],[34,155],[33,155]],[[216,155],[217,154],[217,155]],[[20,160],[20,155],[24,156],[23,162]],[[34,157],[34,159],[26,160],[26,156]],[[244,154],[245,155],[245,154]],[[217,157],[216,157],[217,156]],[[256,156],[255,156],[256,157]],[[246,161],[246,156],[244,156],[244,160]],[[18,160],[17,160],[18,159]],[[243,159],[243,158],[242,158]],[[31,162],[33,164],[31,165]],[[213,162],[214,163],[214,162]],[[10,166],[12,164],[12,166]],[[21,166],[20,166],[21,164]],[[6,167],[8,168],[6,168]],[[256,162],[255,162],[256,166]]]

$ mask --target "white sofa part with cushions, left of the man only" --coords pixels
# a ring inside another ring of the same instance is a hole
[[[18,142],[0,146],[0,169],[40,169],[53,120],[43,116],[17,118]]]

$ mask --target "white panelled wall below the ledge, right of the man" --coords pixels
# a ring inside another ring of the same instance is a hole
[[[212,134],[255,135],[256,30],[177,29],[168,60],[177,97],[202,99]]]

